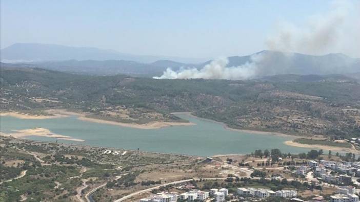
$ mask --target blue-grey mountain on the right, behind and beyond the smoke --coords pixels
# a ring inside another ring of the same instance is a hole
[[[257,75],[269,76],[278,74],[327,75],[345,74],[360,71],[360,59],[350,58],[341,53],[327,55],[306,55],[278,51],[261,51],[248,56],[228,57],[230,66],[243,65],[256,58]],[[211,61],[200,64],[204,66]]]

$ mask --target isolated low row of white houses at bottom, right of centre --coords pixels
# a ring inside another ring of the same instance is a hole
[[[272,191],[270,189],[257,189],[257,188],[237,188],[237,194],[241,196],[253,196],[259,198],[267,198],[267,197],[295,197],[297,195],[296,190],[279,190]]]

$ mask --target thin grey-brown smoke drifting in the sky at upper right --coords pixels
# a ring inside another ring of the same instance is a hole
[[[355,12],[352,12],[354,7]],[[356,7],[360,9],[358,5],[348,1],[334,1],[328,13],[311,16],[304,26],[282,22],[275,33],[267,38],[266,46],[270,50],[313,55],[348,53],[347,41],[352,41],[352,47],[360,46],[359,40],[356,39],[358,37],[352,37],[354,33],[360,36],[360,16],[358,11],[356,12]],[[356,49],[358,53],[358,48]]]

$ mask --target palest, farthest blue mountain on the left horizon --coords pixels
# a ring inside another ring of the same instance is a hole
[[[2,62],[38,62],[59,60],[133,60],[137,62],[154,62],[167,59],[179,62],[199,62],[199,59],[148,56],[119,53],[91,47],[69,47],[55,44],[15,43],[1,51]]]

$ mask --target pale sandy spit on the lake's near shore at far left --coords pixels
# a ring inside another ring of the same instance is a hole
[[[14,137],[14,138],[24,138],[28,136],[38,136],[38,137],[47,137],[47,138],[56,138],[60,140],[70,140],[76,142],[85,142],[85,140],[75,139],[70,136],[63,136],[62,134],[52,133],[50,130],[46,128],[33,128],[33,129],[25,129],[25,130],[15,130],[12,133],[4,133],[0,132],[2,136]]]

